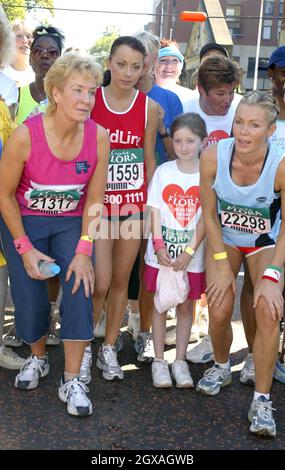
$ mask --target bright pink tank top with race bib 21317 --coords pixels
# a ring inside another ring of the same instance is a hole
[[[73,160],[57,158],[50,150],[42,114],[25,121],[31,137],[31,153],[16,191],[22,215],[81,216],[86,191],[97,165],[97,127],[84,123],[84,138]]]

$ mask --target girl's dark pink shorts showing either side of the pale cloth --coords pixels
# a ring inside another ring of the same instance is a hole
[[[146,290],[149,292],[156,291],[156,279],[158,275],[158,269],[153,268],[152,266],[145,265],[144,269],[144,282]],[[190,286],[190,292],[188,295],[188,299],[190,300],[198,300],[200,299],[201,295],[205,293],[206,290],[206,274],[205,271],[202,273],[189,273],[188,281]]]

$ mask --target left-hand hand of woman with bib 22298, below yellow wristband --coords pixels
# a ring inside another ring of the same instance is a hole
[[[236,280],[228,262],[217,261],[215,279],[209,283],[206,289],[209,306],[219,307],[224,299],[225,293],[231,287],[233,294],[236,292]]]

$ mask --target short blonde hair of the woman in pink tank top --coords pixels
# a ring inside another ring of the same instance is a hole
[[[82,75],[92,75],[97,86],[102,83],[102,67],[95,62],[91,55],[83,55],[74,52],[64,54],[62,57],[56,59],[44,79],[45,92],[49,102],[47,107],[48,114],[56,111],[57,107],[53,98],[53,88],[56,87],[60,91],[63,91],[66,80],[74,72]]]

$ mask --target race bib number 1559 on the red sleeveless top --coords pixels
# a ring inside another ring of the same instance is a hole
[[[143,149],[112,150],[106,191],[134,191],[143,183]]]

